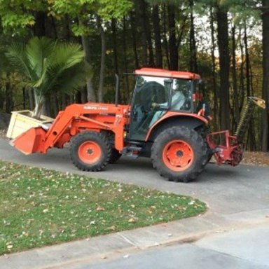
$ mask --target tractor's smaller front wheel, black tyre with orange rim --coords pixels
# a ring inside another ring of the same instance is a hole
[[[70,156],[79,170],[96,172],[109,163],[111,146],[100,132],[81,132],[71,139]]]

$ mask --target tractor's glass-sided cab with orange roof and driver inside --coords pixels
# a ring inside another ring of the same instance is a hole
[[[146,135],[168,112],[197,113],[200,76],[182,71],[143,68],[135,71],[129,139],[145,141]]]

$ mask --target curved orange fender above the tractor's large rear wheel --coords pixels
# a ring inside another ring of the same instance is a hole
[[[166,123],[169,124],[170,120],[184,120],[185,123],[190,123],[191,127],[195,128],[200,125],[207,125],[208,120],[194,113],[181,113],[176,111],[168,111],[165,115],[154,123],[149,132],[146,135],[146,142],[148,142],[152,137],[155,137],[154,132],[158,130],[158,127],[162,127]],[[184,125],[184,124],[183,124]]]

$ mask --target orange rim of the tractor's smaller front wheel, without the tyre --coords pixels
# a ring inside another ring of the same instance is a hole
[[[92,141],[87,141],[81,144],[78,148],[78,158],[80,158],[83,163],[92,164],[97,162],[102,156],[102,149],[100,146]]]

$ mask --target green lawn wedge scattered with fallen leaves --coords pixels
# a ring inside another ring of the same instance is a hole
[[[0,161],[0,254],[205,212],[191,197]]]

